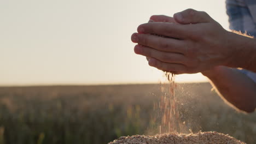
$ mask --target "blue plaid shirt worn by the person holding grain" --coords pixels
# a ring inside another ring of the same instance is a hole
[[[256,38],[256,0],[226,0],[226,14],[229,16],[230,29]],[[239,70],[256,82],[256,73]]]

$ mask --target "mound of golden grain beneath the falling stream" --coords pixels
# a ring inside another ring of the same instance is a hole
[[[217,132],[199,132],[196,134],[162,134],[155,136],[121,136],[108,144],[245,144],[229,135]]]

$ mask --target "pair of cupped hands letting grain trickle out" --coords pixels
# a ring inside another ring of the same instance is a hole
[[[230,32],[204,11],[187,9],[173,17],[153,15],[139,25],[131,40],[135,53],[152,67],[173,74],[193,74],[231,65]]]

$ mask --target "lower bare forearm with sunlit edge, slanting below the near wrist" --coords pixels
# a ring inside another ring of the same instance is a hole
[[[253,112],[256,106],[256,84],[237,69],[218,66],[204,72],[216,91],[226,102],[237,109]]]

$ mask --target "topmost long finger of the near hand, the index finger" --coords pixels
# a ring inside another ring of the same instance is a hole
[[[149,22],[139,25],[138,33],[164,35],[166,37],[182,39],[187,35],[187,28],[177,23]]]

